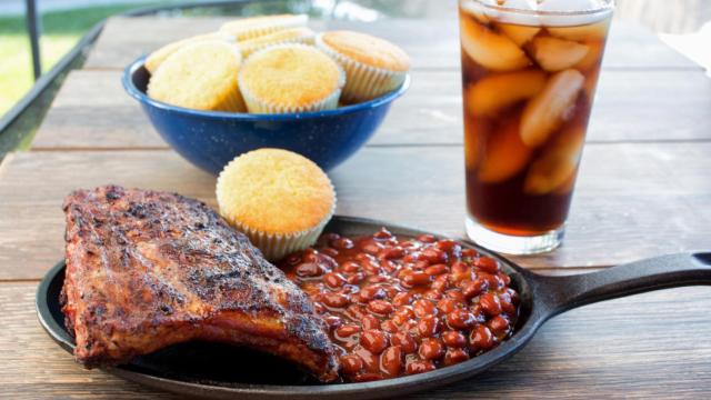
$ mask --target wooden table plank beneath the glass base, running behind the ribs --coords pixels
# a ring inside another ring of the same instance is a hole
[[[531,268],[600,267],[709,248],[711,143],[588,144],[564,246],[513,258]],[[331,177],[338,212],[463,236],[462,149],[367,148]],[[62,198],[119,183],[214,204],[214,178],[171,151],[18,153],[0,176],[0,279],[39,278],[62,254]]]

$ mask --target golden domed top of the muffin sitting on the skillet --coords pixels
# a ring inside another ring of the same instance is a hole
[[[303,156],[259,149],[232,160],[217,184],[220,213],[237,227],[271,234],[317,227],[336,206],[326,173]]]

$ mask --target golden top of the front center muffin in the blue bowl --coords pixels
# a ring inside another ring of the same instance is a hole
[[[317,48],[281,44],[250,56],[239,76],[244,97],[280,106],[308,106],[343,86],[340,67]]]

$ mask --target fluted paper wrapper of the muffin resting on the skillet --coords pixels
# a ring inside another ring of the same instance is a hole
[[[259,250],[261,250],[267,260],[278,261],[287,254],[290,254],[294,251],[304,250],[308,247],[313,246],[313,243],[316,243],[316,241],[323,232],[323,228],[326,227],[326,224],[336,213],[336,203],[337,197],[336,190],[333,190],[333,207],[331,207],[329,214],[323,218],[323,220],[321,220],[316,227],[296,233],[280,234],[263,232],[259,229],[248,227],[240,221],[230,218],[229,216],[226,216],[226,218],[234,229],[244,233],[247,238],[249,238],[250,242],[254,244]],[[220,213],[224,216],[226,211],[221,209]]]

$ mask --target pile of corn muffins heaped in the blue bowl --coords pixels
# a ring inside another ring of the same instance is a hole
[[[316,33],[307,16],[254,17],[169,43],[144,63],[148,96],[196,110],[291,113],[375,99],[404,81],[408,54],[353,31]]]

